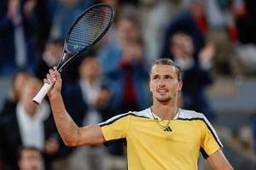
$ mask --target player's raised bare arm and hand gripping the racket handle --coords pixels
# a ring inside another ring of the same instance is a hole
[[[61,134],[61,139],[67,146],[79,146],[86,144],[103,144],[106,142],[99,125],[78,127],[71,116],[68,115],[61,97],[61,74],[50,69],[44,83],[55,82],[49,89],[48,96],[53,111],[56,127]]]

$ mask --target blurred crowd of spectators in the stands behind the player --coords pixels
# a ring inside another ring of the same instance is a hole
[[[179,107],[213,124],[206,88],[214,77],[256,73],[254,0],[1,0],[0,76],[12,77],[12,86],[0,114],[0,169],[126,169],[124,141],[67,147],[47,97],[32,102],[61,58],[69,27],[96,3],[113,7],[113,25],[61,72],[61,94],[79,127],[149,107],[154,59],[181,66]]]

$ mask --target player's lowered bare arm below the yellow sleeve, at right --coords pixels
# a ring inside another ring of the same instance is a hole
[[[231,167],[229,161],[224,156],[224,153],[222,150],[217,150],[214,152],[211,156],[207,158],[207,161],[212,166],[214,170],[231,170],[233,167]]]

